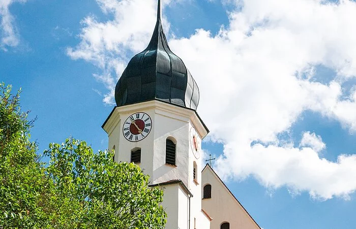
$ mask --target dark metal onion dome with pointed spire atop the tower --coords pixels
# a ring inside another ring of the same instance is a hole
[[[115,88],[117,106],[161,100],[196,110],[199,89],[183,61],[168,47],[158,1],[157,23],[147,48],[136,54]]]

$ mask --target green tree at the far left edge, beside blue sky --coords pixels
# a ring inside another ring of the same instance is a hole
[[[43,196],[51,183],[36,143],[29,141],[33,122],[21,111],[19,96],[0,83],[0,228],[39,228],[46,221]]]

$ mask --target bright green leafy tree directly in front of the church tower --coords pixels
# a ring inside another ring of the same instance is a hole
[[[50,144],[45,156],[60,203],[79,203],[60,214],[74,228],[164,228],[163,190],[149,188],[149,176],[137,165],[113,162],[113,152],[94,153],[85,141],[73,138]]]

